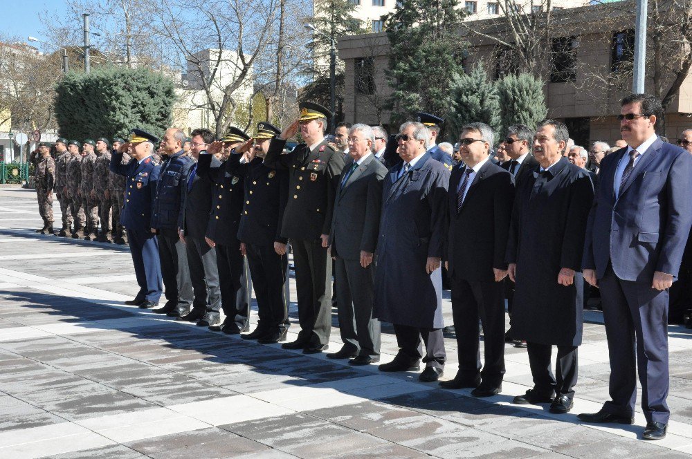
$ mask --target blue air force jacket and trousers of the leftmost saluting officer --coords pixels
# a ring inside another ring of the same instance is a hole
[[[120,223],[127,228],[134,272],[139,285],[136,301],[158,303],[161,297],[161,264],[158,261],[156,234],[151,231],[152,200],[161,167],[149,156],[141,162],[130,160],[120,164],[122,153],[111,156],[110,169],[125,176],[125,200],[120,212]]]

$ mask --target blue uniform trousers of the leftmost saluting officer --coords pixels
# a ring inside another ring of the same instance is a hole
[[[158,241],[149,229],[130,229],[130,253],[134,274],[139,285],[135,299],[158,303],[161,298],[161,265],[158,261]]]

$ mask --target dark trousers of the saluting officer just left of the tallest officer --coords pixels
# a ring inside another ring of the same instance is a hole
[[[246,245],[248,265],[257,298],[257,328],[283,332],[289,328],[289,256],[279,255],[273,245]]]

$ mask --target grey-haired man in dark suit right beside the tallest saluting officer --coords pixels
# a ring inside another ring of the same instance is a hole
[[[329,245],[339,331],[344,343],[331,359],[355,357],[349,364],[380,359],[380,323],[372,317],[374,252],[380,227],[382,180],[387,168],[372,154],[374,132],[367,124],[349,130],[349,160],[336,193]]]

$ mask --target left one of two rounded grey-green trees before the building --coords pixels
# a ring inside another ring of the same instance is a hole
[[[450,82],[449,91],[448,135],[459,135],[462,126],[472,122],[484,122],[498,132],[500,95],[495,84],[489,81],[482,63],[478,63],[471,73],[457,73]]]

